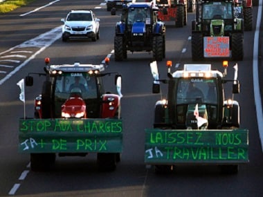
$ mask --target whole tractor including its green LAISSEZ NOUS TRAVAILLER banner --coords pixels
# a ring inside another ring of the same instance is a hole
[[[153,129],[145,129],[145,164],[156,172],[172,171],[176,165],[219,165],[224,173],[237,173],[239,164],[248,162],[248,130],[239,129],[240,107],[237,64],[235,76],[212,70],[211,64],[185,64],[160,79],[156,62],[150,63],[154,78],[152,92],[160,93],[167,84],[167,96],[161,95],[154,109]],[[232,96],[226,97],[226,84],[232,84]]]

